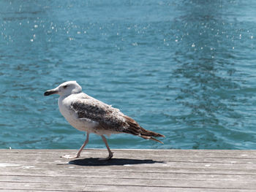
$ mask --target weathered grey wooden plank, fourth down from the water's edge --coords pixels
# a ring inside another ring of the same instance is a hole
[[[47,182],[53,179],[57,182],[74,183],[74,180],[80,180],[87,177],[94,178],[121,178],[121,179],[143,179],[143,180],[195,180],[195,181],[232,181],[240,182],[246,180],[256,180],[256,175],[230,175],[230,174],[166,174],[166,173],[140,173],[140,172],[89,172],[87,174],[80,174],[71,176],[68,174],[61,175],[48,175],[48,174],[1,174],[0,181],[2,182],[12,182],[18,180],[20,182],[26,182],[26,180]],[[53,178],[54,177],[54,178]]]

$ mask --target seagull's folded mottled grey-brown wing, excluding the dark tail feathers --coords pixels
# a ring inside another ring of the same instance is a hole
[[[129,126],[120,110],[90,96],[76,99],[71,103],[70,109],[78,118],[94,120],[105,129],[123,132]]]

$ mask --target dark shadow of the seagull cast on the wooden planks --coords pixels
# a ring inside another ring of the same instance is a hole
[[[135,165],[135,164],[164,164],[165,161],[154,161],[151,159],[132,159],[132,158],[111,158],[110,160],[99,160],[99,158],[83,158],[69,161],[69,164],[78,166],[114,166],[114,165]]]

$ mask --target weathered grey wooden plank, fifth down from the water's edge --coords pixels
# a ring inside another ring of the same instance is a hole
[[[43,178],[43,181],[42,181]],[[25,177],[25,176],[19,176],[19,177],[12,177],[13,180],[9,181],[1,181],[1,186],[3,185],[9,185],[9,183],[15,182],[15,188],[18,188],[18,185],[27,185],[28,187],[31,185],[50,185],[52,187],[52,184],[65,184],[65,185],[76,185],[83,186],[86,185],[86,183],[89,183],[91,185],[115,185],[118,186],[143,186],[143,187],[168,187],[168,188],[220,188],[220,189],[255,189],[256,183],[255,181],[222,181],[222,180],[168,180],[168,179],[151,179],[151,178],[118,178],[118,177],[72,177],[69,182],[67,182],[70,177],[61,177],[62,180],[56,177]],[[32,179],[32,180],[31,180]],[[43,188],[39,188],[42,190]]]

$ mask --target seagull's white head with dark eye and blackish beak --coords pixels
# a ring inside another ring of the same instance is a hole
[[[56,88],[45,91],[44,96],[50,96],[52,94],[59,94],[60,96],[69,96],[75,93],[81,93],[82,88],[76,81],[63,82]]]

